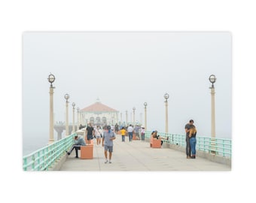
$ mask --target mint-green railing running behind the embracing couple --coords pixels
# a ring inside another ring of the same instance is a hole
[[[163,140],[167,144],[180,145],[186,147],[186,135],[175,135],[164,132],[158,132],[158,135],[163,138],[169,138],[168,141]],[[150,138],[151,132],[145,132],[145,138]],[[205,153],[215,153],[218,156],[232,156],[232,141],[224,138],[209,138],[197,136],[196,149]]]

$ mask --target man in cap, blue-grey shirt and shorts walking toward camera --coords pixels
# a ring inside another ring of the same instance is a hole
[[[105,163],[111,163],[114,139],[115,134],[113,131],[111,131],[111,126],[108,126],[107,130],[104,131],[102,136],[102,147],[104,147]]]

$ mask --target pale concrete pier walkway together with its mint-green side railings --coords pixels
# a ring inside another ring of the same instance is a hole
[[[112,163],[105,164],[104,147],[93,144],[93,159],[75,158],[75,150],[69,156],[73,137],[69,135],[53,144],[43,147],[28,156],[23,156],[24,171],[230,171],[231,144],[215,139],[215,153],[211,138],[197,138],[197,158],[187,159],[183,135],[168,135],[161,148],[150,147],[150,132],[145,141],[121,141],[116,135]],[[163,135],[164,136],[164,135]],[[162,136],[162,137],[163,137]],[[95,140],[95,139],[94,139]],[[203,143],[203,144],[202,144]],[[221,143],[221,144],[220,144]],[[218,146],[218,148],[217,148]],[[222,146],[222,147],[221,147]],[[224,146],[224,147],[223,147]],[[78,150],[80,157],[80,150]]]

